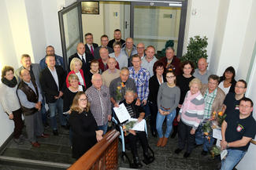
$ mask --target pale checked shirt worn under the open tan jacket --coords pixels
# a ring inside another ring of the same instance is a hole
[[[205,99],[205,110],[204,110],[204,119],[209,119],[210,115],[212,114],[212,107],[213,107],[213,100],[217,96],[217,89],[213,92],[209,93],[209,90],[206,90],[206,94],[203,96]]]

